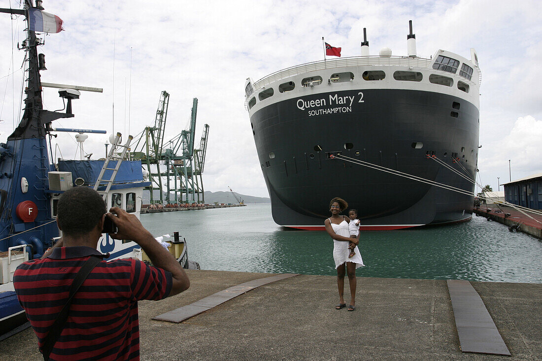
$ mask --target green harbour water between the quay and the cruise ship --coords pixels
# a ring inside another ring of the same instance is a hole
[[[202,269],[336,275],[325,231],[282,228],[270,204],[141,215],[152,234],[179,231]],[[323,224],[324,220],[322,220]],[[542,283],[542,242],[504,224],[472,221],[395,231],[362,231],[358,276]]]

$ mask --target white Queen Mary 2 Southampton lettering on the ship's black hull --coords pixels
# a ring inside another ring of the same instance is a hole
[[[352,112],[352,105],[358,97],[357,103],[363,103],[363,93],[359,92],[358,96],[328,94],[326,98],[321,99],[298,99],[296,106],[302,111],[307,111],[309,117],[335,113],[350,113]]]

